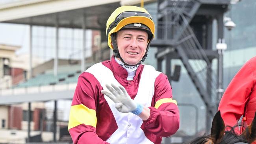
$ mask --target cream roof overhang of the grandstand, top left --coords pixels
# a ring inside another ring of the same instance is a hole
[[[0,22],[104,29],[120,0],[26,0],[0,6]]]

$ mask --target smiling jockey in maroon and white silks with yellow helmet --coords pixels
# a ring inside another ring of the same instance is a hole
[[[74,144],[160,144],[179,128],[179,110],[167,76],[143,65],[154,38],[146,9],[117,8],[107,21],[114,55],[79,78],[69,117]]]

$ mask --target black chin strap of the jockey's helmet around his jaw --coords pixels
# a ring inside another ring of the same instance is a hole
[[[114,34],[114,35],[113,35],[113,34],[111,35],[111,41],[112,41],[112,44],[113,44],[113,49],[114,49],[114,50],[113,50],[113,53],[114,53],[115,57],[116,57],[116,58],[119,58],[119,59],[124,63],[124,65],[127,65],[127,66],[135,66],[135,65],[139,65],[139,64],[141,64],[143,61],[145,61],[145,59],[146,59],[146,57],[147,57],[147,55],[148,55],[148,48],[149,48],[149,46],[150,46],[150,43],[151,43],[152,39],[150,39],[149,42],[148,42],[145,55],[142,57],[141,61],[139,61],[139,63],[137,63],[137,64],[135,64],[135,65],[129,65],[129,64],[125,63],[125,61],[124,61],[124,60],[122,59],[122,57],[120,56],[120,53],[119,53],[119,50],[118,50],[118,47],[117,47],[117,41],[115,40],[115,34]]]

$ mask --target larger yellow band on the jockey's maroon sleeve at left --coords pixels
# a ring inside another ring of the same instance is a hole
[[[96,127],[96,111],[89,109],[83,104],[72,105],[69,114],[69,129],[80,124]]]

